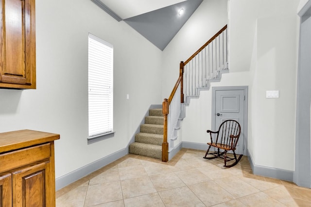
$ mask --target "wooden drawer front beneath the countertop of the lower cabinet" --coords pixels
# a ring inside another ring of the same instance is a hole
[[[50,143],[0,155],[0,173],[51,157]]]

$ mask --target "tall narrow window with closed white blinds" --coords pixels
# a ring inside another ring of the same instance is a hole
[[[87,143],[113,135],[113,46],[88,34]]]

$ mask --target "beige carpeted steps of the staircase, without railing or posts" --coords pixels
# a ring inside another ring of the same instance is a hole
[[[135,142],[129,145],[129,153],[161,159],[163,123],[162,108],[150,109],[145,124],[140,125],[140,132],[135,135]]]

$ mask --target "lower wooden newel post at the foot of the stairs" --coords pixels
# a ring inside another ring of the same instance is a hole
[[[167,142],[167,115],[170,113],[169,102],[167,98],[164,98],[162,103],[162,111],[164,115],[162,162],[167,162],[169,161],[169,143]]]

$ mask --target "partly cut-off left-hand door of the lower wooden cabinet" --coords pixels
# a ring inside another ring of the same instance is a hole
[[[0,207],[12,207],[12,175],[0,174]]]

